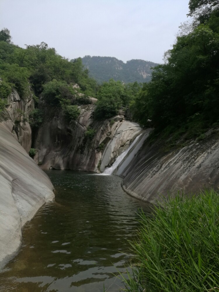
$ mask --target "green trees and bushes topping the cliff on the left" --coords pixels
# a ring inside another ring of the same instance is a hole
[[[0,77],[0,110],[13,89],[23,99],[34,92],[36,101],[41,98],[50,107],[64,109],[80,104],[78,91],[86,97],[95,96],[98,89],[81,58],[69,62],[45,42],[20,48],[11,43],[10,31],[5,28],[0,31]],[[73,88],[75,83],[80,89]]]

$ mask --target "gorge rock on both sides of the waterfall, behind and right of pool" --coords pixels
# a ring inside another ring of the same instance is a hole
[[[42,168],[103,172],[139,136],[134,147],[113,170],[123,176],[123,189],[140,200],[156,203],[159,195],[197,192],[219,184],[219,135],[211,133],[201,141],[191,140],[183,148],[163,150],[163,143],[148,141],[152,128],[143,130],[120,115],[94,121],[95,105],[80,106],[76,121],[66,123],[62,115],[39,129],[34,157]],[[92,129],[92,137],[86,132]],[[164,141],[163,141],[164,142]]]

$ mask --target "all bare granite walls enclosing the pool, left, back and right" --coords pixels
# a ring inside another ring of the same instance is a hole
[[[159,199],[159,194],[167,196],[168,192],[175,194],[178,190],[189,193],[200,187],[217,188],[219,184],[217,130],[206,133],[204,140],[191,140],[185,147],[164,151],[161,141],[150,143],[148,137],[153,129],[143,130],[129,121],[125,112],[95,121],[94,104],[79,107],[77,120],[66,121],[62,112],[44,120],[34,141],[37,150],[34,162],[27,154],[32,134],[25,119],[34,102],[31,97],[20,99],[16,92],[9,97],[0,123],[0,261],[3,264],[18,248],[22,226],[46,201],[54,198],[50,180],[36,164],[45,169],[100,173],[128,150],[112,174],[123,176],[122,187],[128,194],[152,203]],[[133,147],[129,148],[131,144]]]

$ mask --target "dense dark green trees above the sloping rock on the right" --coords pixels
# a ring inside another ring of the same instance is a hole
[[[131,104],[135,120],[147,120],[160,130],[169,124],[188,124],[199,115],[206,124],[218,120],[219,104],[219,11],[205,23],[180,34],[166,63],[154,68],[152,80],[144,84]]]

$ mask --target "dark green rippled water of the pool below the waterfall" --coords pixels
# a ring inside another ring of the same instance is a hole
[[[112,273],[125,271],[138,228],[138,208],[121,178],[73,171],[46,171],[55,203],[43,206],[23,229],[18,255],[0,273],[0,291],[119,291]],[[40,182],[39,182],[40,183]]]

